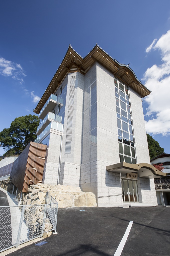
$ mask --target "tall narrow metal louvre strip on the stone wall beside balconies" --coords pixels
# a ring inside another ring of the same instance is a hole
[[[65,154],[71,153],[72,117],[73,117],[73,106],[74,106],[75,80],[76,80],[76,76],[72,76],[70,79]]]

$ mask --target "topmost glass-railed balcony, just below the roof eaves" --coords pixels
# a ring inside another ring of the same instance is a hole
[[[47,115],[47,113],[49,111],[51,111],[55,107],[56,104],[58,104],[58,105],[60,104],[60,106],[62,107],[63,99],[54,94],[51,94],[50,97],[48,98],[48,100],[45,102],[43,108],[41,109],[39,118],[44,119],[44,117]]]

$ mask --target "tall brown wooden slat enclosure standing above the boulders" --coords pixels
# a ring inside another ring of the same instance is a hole
[[[28,186],[42,183],[46,145],[30,142],[14,162],[11,178],[12,183],[22,192]]]

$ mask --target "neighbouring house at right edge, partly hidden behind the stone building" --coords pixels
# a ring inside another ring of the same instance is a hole
[[[165,178],[154,179],[158,205],[170,205],[170,154],[162,153],[151,159],[151,164],[163,164]]]

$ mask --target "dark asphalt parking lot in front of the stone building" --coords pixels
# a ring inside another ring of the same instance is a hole
[[[113,256],[133,221],[121,256],[169,256],[170,207],[65,208],[58,210],[57,231],[9,256]]]

